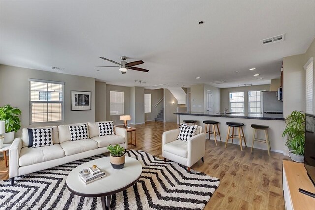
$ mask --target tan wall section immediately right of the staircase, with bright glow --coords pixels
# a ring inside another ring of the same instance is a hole
[[[178,107],[177,100],[167,88],[164,88],[164,121],[166,122],[177,122],[176,112]]]

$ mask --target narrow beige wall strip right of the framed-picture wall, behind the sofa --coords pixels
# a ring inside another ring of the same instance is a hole
[[[106,83],[95,81],[95,121],[106,121]]]

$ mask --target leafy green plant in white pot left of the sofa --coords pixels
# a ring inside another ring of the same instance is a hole
[[[21,110],[10,105],[0,107],[0,121],[5,121],[4,141],[11,143],[14,140],[14,133],[20,130],[21,120],[19,118]]]

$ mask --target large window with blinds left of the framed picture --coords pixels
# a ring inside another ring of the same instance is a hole
[[[30,79],[30,123],[63,121],[63,82]]]

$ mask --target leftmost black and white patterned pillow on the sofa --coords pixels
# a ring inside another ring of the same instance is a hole
[[[43,129],[30,129],[28,128],[29,133],[29,145],[28,147],[44,147],[53,145],[52,139],[52,128],[43,128]]]

